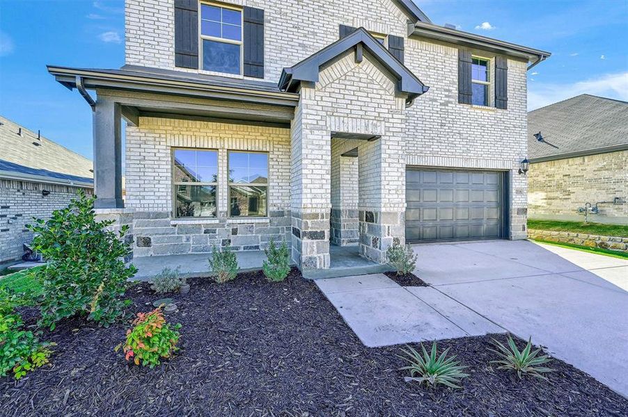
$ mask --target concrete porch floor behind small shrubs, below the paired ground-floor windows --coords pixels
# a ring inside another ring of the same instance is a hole
[[[266,255],[262,250],[234,253],[237,256],[237,265],[240,267],[240,272],[260,270],[266,259]],[[159,272],[162,272],[164,268],[175,269],[177,267],[179,267],[181,277],[209,277],[210,270],[207,259],[210,256],[211,254],[141,256],[131,261],[137,268],[137,273],[133,279],[136,281],[149,281]]]

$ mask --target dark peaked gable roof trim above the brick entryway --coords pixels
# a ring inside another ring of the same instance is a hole
[[[379,63],[397,78],[396,88],[398,92],[407,93],[408,102],[429,90],[429,87],[423,84],[405,65],[400,63],[384,45],[377,42],[365,28],[358,28],[350,35],[329,44],[300,63],[284,68],[279,79],[279,89],[295,92],[301,81],[317,82],[322,65],[329,63],[330,60],[357,46],[361,46],[370,52]]]

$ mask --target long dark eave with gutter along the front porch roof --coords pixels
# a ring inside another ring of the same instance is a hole
[[[111,74],[98,70],[57,67],[54,65],[47,65],[47,69],[58,83],[61,83],[61,85],[66,88],[70,88],[70,90],[77,87],[76,80],[77,77],[80,77],[83,80],[85,88],[91,90],[99,88],[132,90],[290,107],[296,106],[299,101],[299,96],[290,92],[272,92],[256,90],[254,88],[227,87],[194,81],[180,81],[166,78],[159,79],[154,76],[148,77],[137,74]]]

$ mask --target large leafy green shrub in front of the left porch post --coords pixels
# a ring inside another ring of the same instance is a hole
[[[42,282],[40,325],[50,329],[77,314],[107,326],[123,313],[120,297],[136,272],[123,261],[131,245],[124,242],[128,227],[116,234],[107,229],[113,220],[97,222],[94,199],[81,192],[50,220],[27,226],[36,234],[34,250],[47,261],[34,273]]]

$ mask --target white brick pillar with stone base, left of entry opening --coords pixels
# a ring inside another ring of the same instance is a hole
[[[292,259],[301,270],[329,268],[330,134],[313,85],[303,85],[290,129]]]

